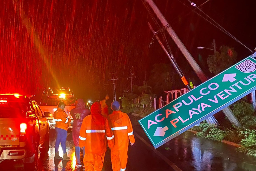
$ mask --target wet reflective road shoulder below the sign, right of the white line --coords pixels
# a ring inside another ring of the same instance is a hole
[[[170,148],[165,150],[165,148]],[[256,158],[237,152],[235,147],[184,132],[158,148],[182,170],[255,171]]]

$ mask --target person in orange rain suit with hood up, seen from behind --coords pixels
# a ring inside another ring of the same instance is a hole
[[[108,120],[101,115],[101,104],[91,105],[91,115],[83,119],[80,129],[79,146],[85,147],[83,159],[85,171],[101,171],[105,152],[106,140],[109,148],[114,146],[114,136]]]

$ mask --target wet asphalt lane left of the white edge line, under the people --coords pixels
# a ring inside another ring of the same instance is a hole
[[[54,145],[55,135],[51,134],[50,138],[50,150],[47,155],[39,154],[37,171],[80,171],[82,168],[75,169],[76,158],[75,158],[75,147],[72,140],[72,133],[68,133],[66,141],[66,151],[68,156],[71,158],[70,161],[54,160]],[[128,163],[127,171],[159,171],[160,167],[164,170],[170,170],[171,167],[153,153],[149,148],[145,148],[145,144],[135,137],[135,145],[130,146],[128,150]],[[61,146],[59,147],[59,154],[62,156]],[[82,161],[82,152],[80,153],[80,159]],[[153,160],[152,160],[153,159]],[[22,162],[5,162],[0,164],[0,171],[24,171]],[[108,149],[105,155],[104,167],[102,171],[112,171],[110,150]]]

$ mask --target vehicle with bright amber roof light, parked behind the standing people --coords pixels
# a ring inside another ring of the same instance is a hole
[[[59,100],[65,103],[65,112],[68,118],[71,119],[71,125],[73,125],[73,118],[70,115],[71,109],[75,108],[76,99],[74,97],[73,91],[68,88],[45,88],[39,103],[40,108],[43,112],[50,112],[52,116],[48,118],[50,122],[50,128],[55,127],[55,120],[53,118],[53,113],[57,110],[57,105]]]

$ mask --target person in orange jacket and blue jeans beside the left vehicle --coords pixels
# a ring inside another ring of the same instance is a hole
[[[55,156],[54,159],[62,159],[69,160],[70,158],[66,153],[66,138],[67,138],[67,130],[71,126],[70,118],[67,117],[65,109],[65,103],[61,100],[59,101],[57,110],[53,113],[53,118],[56,122],[55,131],[57,134],[56,142],[55,142]],[[61,143],[63,158],[59,156],[59,145]]]

